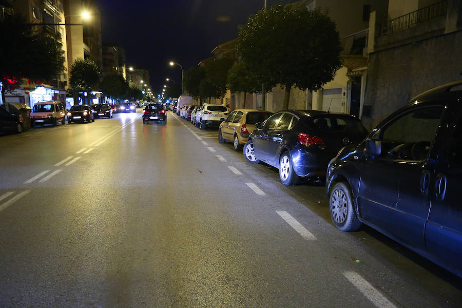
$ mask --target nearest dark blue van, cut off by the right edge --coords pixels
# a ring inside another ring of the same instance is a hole
[[[334,225],[365,223],[462,277],[462,81],[413,98],[330,162]],[[456,88],[458,90],[456,90]]]

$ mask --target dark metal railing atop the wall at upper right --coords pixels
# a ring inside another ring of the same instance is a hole
[[[432,18],[446,15],[448,8],[448,1],[440,1],[438,3],[429,5],[425,8],[418,9],[406,15],[399,16],[388,22],[382,27],[382,34],[392,33],[407,29],[413,25],[426,22]]]

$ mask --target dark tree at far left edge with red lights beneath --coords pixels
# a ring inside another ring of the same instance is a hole
[[[5,91],[29,82],[49,82],[63,72],[62,45],[42,27],[27,25],[20,15],[5,15],[0,20],[0,82]]]

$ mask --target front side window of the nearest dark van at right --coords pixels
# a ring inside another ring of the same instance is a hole
[[[382,153],[390,159],[424,161],[438,128],[443,106],[422,107],[381,129]]]

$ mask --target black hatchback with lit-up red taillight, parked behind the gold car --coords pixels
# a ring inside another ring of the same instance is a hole
[[[359,119],[348,114],[285,110],[255,124],[243,152],[247,162],[272,165],[284,185],[295,185],[300,178],[325,177],[338,150],[360,142],[367,133]]]

